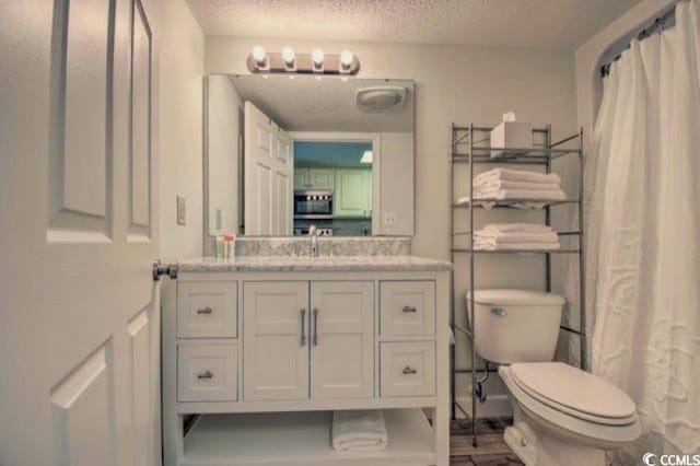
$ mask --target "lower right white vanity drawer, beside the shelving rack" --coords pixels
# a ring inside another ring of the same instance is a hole
[[[383,397],[435,395],[435,342],[383,342],[380,347]]]

